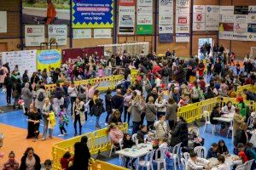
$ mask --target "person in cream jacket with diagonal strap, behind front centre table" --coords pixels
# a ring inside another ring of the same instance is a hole
[[[166,139],[169,137],[169,126],[166,122],[166,116],[160,115],[159,121],[154,122],[154,127],[156,131],[156,137],[158,139]]]

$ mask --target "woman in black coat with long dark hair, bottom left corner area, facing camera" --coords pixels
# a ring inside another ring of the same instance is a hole
[[[28,161],[30,161],[30,166],[32,166],[32,169],[41,169],[40,157],[34,153],[34,149],[32,148],[27,148],[24,156],[21,157],[20,170],[26,170],[26,168],[28,168]]]

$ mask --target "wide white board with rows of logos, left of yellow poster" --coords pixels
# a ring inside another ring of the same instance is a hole
[[[11,71],[15,69],[15,65],[19,65],[20,74],[27,70],[28,75],[32,76],[32,73],[37,71],[37,50],[3,52],[2,62],[9,62]]]

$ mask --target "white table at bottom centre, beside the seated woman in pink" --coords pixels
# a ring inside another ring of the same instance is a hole
[[[150,150],[153,150],[152,143],[137,144],[132,146],[132,148],[125,148],[123,150],[118,150],[115,153],[120,156],[130,157],[136,159],[140,156],[145,156]]]

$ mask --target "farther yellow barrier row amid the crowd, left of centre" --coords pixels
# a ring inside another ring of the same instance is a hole
[[[88,83],[94,85],[95,83],[100,83],[99,90],[100,91],[107,91],[108,88],[114,89],[116,84],[123,80],[125,77],[124,75],[117,75],[117,76],[111,76],[111,77],[99,77],[99,78],[91,78],[87,80],[81,80],[81,81],[75,81],[74,85],[75,87],[78,87],[79,85],[87,85]],[[133,82],[137,78],[137,70],[131,70],[131,81]],[[61,83],[62,86],[63,83]],[[56,84],[48,84],[45,85],[46,90],[46,96],[51,96],[52,91],[56,88]]]

